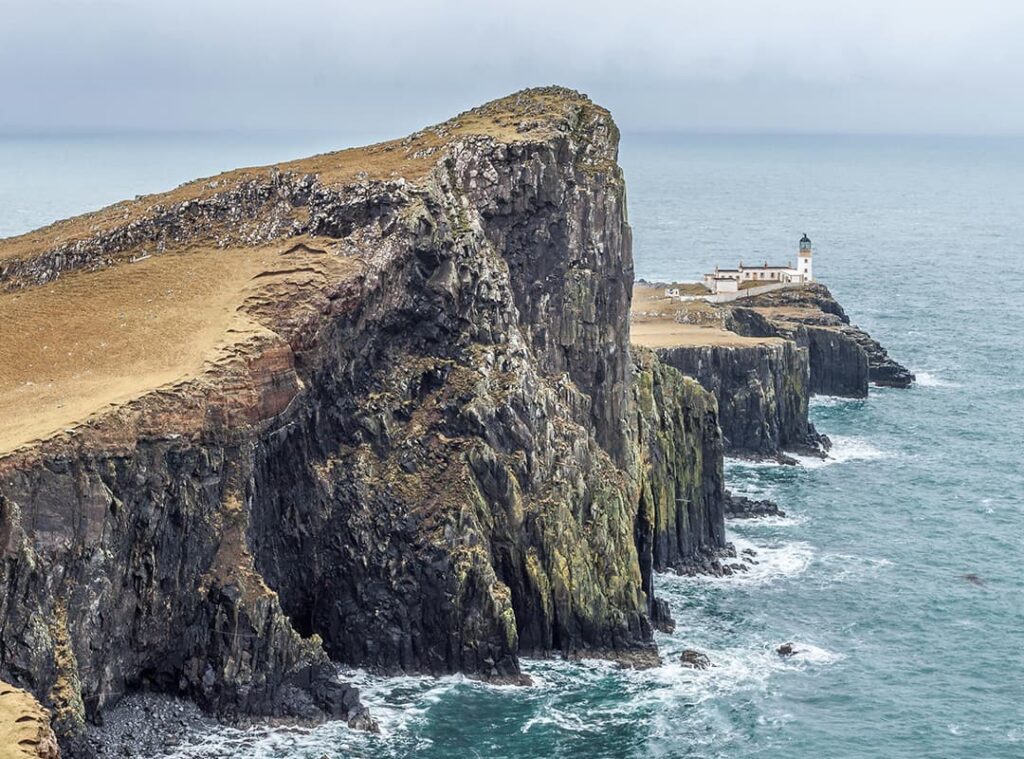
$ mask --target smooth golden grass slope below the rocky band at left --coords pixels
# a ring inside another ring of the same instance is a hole
[[[266,331],[243,304],[283,278],[358,266],[309,245],[185,250],[0,294],[0,453],[197,376]]]

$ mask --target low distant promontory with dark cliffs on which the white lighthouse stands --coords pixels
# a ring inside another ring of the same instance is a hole
[[[864,397],[870,383],[913,375],[853,326],[827,288],[793,286],[725,304],[680,300],[638,283],[633,340],[715,394],[728,453],[792,461],[829,440],[808,415],[812,395]]]

